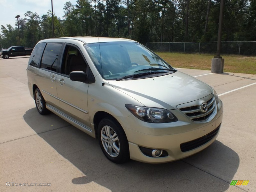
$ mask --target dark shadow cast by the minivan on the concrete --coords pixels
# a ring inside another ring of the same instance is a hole
[[[115,164],[104,156],[97,140],[72,125],[67,126],[55,114],[50,114],[50,119],[61,125],[42,132],[38,122],[40,127],[48,127],[49,121],[41,121],[46,116],[35,113],[36,108],[26,111],[26,123],[85,175],[73,178],[73,184],[95,182],[111,191],[225,191],[234,187],[230,182],[237,172],[239,156],[219,141],[175,162],[146,164],[131,160]]]

